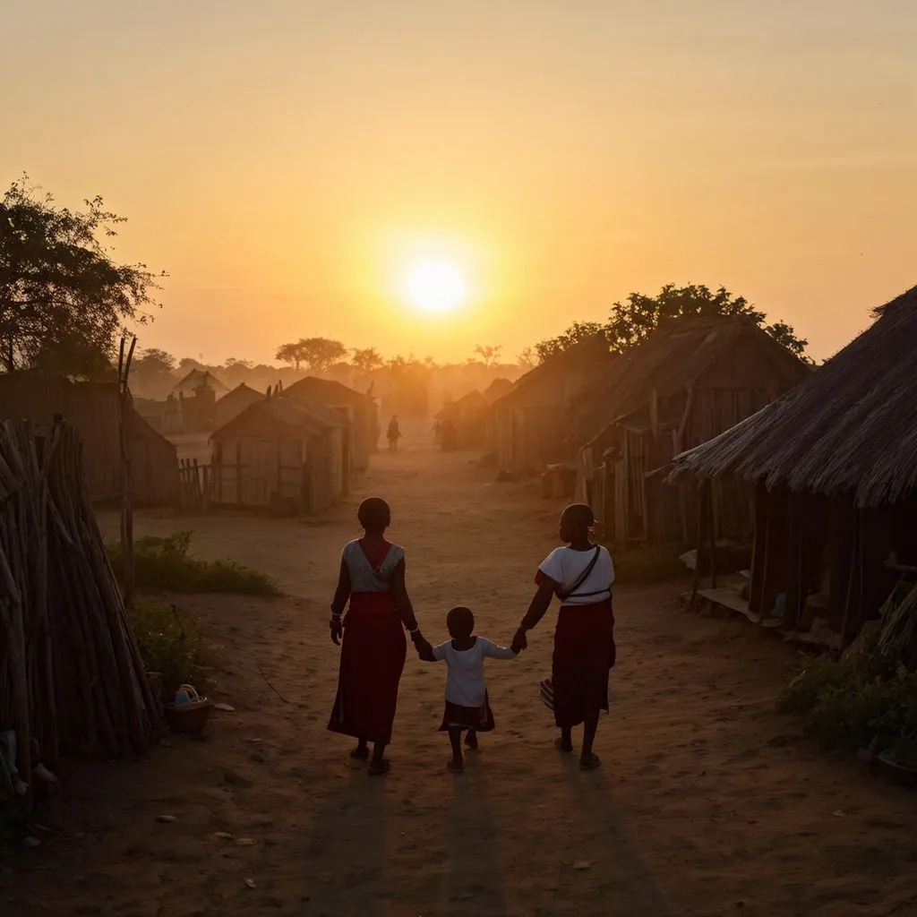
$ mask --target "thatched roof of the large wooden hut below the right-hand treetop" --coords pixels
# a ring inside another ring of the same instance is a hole
[[[734,359],[748,350],[756,355],[753,372],[746,361]],[[711,372],[716,367],[720,371],[714,379]],[[751,388],[757,383],[786,392],[810,372],[806,363],[747,318],[669,319],[614,359],[573,399],[577,438],[587,442],[609,424],[640,410],[653,390],[660,400],[705,382],[711,388]]]

